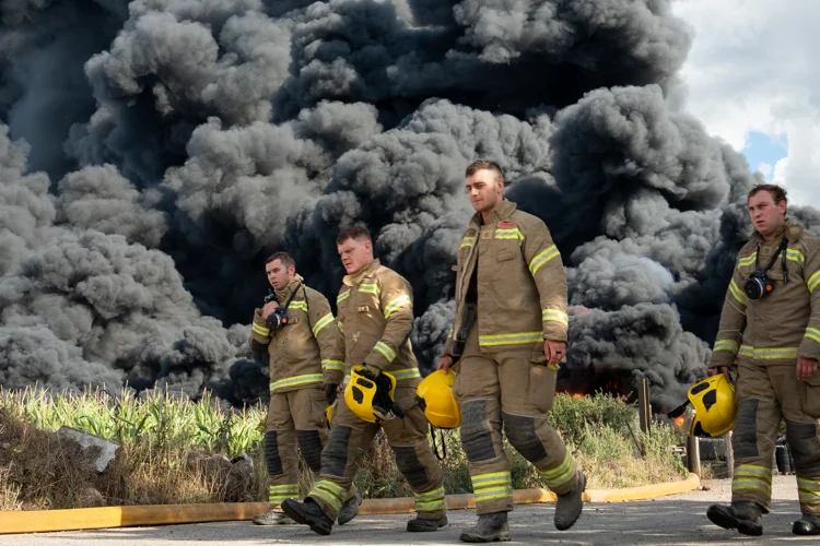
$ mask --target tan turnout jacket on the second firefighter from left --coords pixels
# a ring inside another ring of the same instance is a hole
[[[398,384],[412,385],[421,378],[410,343],[413,327],[413,290],[401,275],[376,259],[345,275],[337,304],[333,361],[343,360],[344,381],[353,366],[375,366],[390,372]],[[342,382],[333,370],[335,383]]]

